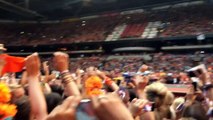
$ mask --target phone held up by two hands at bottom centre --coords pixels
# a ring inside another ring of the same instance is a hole
[[[77,120],[98,120],[89,99],[80,102],[76,110],[76,118]]]

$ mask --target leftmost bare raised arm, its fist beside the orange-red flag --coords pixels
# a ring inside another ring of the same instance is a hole
[[[39,83],[40,59],[37,53],[30,55],[26,60],[27,79],[29,83],[29,97],[32,115],[37,120],[47,116],[47,106]]]

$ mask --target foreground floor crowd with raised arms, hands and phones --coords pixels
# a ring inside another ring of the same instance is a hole
[[[180,69],[194,67],[185,62],[186,56],[174,56],[155,54],[154,61],[159,58],[158,64],[153,61],[143,64],[139,63],[143,60],[129,58],[120,60],[123,63],[111,59],[101,67],[85,65],[85,61],[74,62],[76,67],[74,63],[70,64],[72,58],[66,53],[55,52],[53,58],[48,59],[52,61],[50,66],[47,61],[41,62],[39,54],[34,53],[23,59],[24,70],[20,79],[14,73],[1,75],[0,104],[7,103],[13,107],[0,106],[0,119],[211,120],[213,57],[204,55],[199,60],[204,63],[200,65],[202,69],[192,71],[194,76],[191,76]],[[0,56],[1,71],[5,70],[3,68],[9,60],[5,58]],[[167,62],[168,59],[173,63]],[[96,60],[93,57],[88,62]],[[140,66],[134,65],[135,61]],[[15,64],[11,69],[14,68]],[[187,88],[183,95],[177,95],[167,84],[185,85]],[[6,89],[9,89],[9,97],[4,95]]]

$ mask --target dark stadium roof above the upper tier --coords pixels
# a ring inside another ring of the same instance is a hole
[[[193,0],[0,0],[1,20],[57,20]]]

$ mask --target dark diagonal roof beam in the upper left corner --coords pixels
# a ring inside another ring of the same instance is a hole
[[[0,8],[4,9],[6,11],[12,12],[12,13],[16,13],[25,17],[41,17],[41,18],[46,18],[45,16],[37,13],[36,11],[32,11],[29,10],[27,8],[23,8],[20,6],[17,6],[13,3],[4,1],[4,0],[0,0]]]

